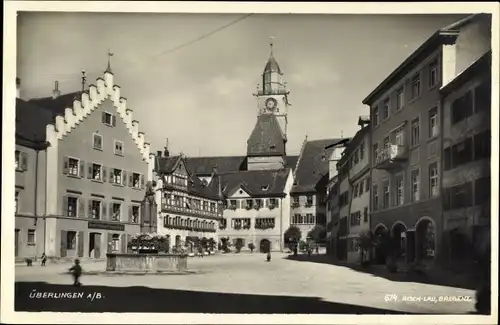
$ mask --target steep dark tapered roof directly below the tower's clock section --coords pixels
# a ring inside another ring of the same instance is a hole
[[[257,117],[257,123],[247,141],[247,156],[285,156],[286,137],[272,114]]]

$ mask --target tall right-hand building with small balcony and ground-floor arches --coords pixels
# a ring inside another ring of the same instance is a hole
[[[403,261],[432,264],[445,254],[438,247],[443,232],[439,89],[490,43],[490,15],[440,29],[363,101],[370,106],[372,127],[372,230],[395,238]]]

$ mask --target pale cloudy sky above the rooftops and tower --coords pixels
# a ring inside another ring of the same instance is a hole
[[[290,90],[287,154],[308,140],[353,136],[362,100],[437,29],[464,15],[20,13],[17,73],[23,99],[115,84],[153,152],[245,155],[252,96],[274,57]],[[240,19],[238,22],[221,27]],[[218,30],[208,37],[202,37]],[[201,39],[200,39],[201,37]],[[182,46],[187,44],[185,46]]]

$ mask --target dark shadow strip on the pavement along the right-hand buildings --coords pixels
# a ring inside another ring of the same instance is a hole
[[[424,272],[419,273],[409,273],[409,272],[397,272],[391,273],[387,271],[384,265],[372,265],[367,268],[361,267],[358,264],[346,263],[343,261],[335,261],[332,257],[328,255],[289,255],[285,257],[285,259],[291,261],[299,261],[299,262],[310,262],[310,263],[321,263],[321,264],[330,264],[335,266],[342,266],[350,268],[353,271],[357,271],[360,273],[371,274],[373,276],[385,278],[390,281],[396,282],[416,282],[416,283],[425,283],[432,285],[440,285],[454,288],[462,288],[468,290],[475,290],[476,283],[475,281],[471,281],[470,275],[459,275],[453,276],[451,274],[426,274]],[[434,272],[437,273],[437,272]]]

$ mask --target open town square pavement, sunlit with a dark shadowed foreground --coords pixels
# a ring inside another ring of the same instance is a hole
[[[104,272],[104,262],[83,262],[81,288],[71,286],[71,276],[65,273],[69,264],[18,266],[15,310],[310,314],[465,314],[474,310],[472,290],[390,281],[287,256],[275,253],[269,263],[259,253],[190,258],[190,274],[182,275],[111,275]],[[57,295],[62,292],[83,294]],[[470,299],[430,301],[443,296]]]

